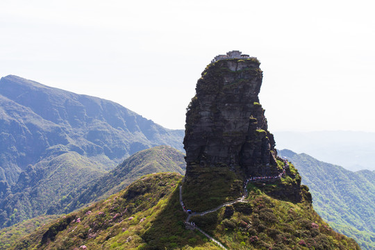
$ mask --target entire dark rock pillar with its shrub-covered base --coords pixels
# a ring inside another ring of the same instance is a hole
[[[183,141],[184,195],[197,210],[240,197],[242,183],[259,176],[279,176],[274,179],[278,189],[268,190],[269,194],[302,199],[301,178],[292,165],[285,166],[278,158],[274,136],[268,131],[258,98],[263,79],[259,65],[249,56],[218,58],[197,82]]]

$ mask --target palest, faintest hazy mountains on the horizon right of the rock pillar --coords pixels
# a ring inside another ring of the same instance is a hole
[[[351,171],[375,170],[375,133],[357,131],[315,131],[274,133],[278,149],[307,153],[326,163]]]

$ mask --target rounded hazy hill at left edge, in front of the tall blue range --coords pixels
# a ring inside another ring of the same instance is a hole
[[[102,175],[91,160],[75,152],[44,160],[35,169],[30,169],[24,183],[18,183],[17,189],[1,201],[0,226],[43,215],[51,203],[65,199],[77,188]],[[30,176],[38,176],[40,180],[32,183]]]

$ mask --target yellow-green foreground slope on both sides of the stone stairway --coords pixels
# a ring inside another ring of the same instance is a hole
[[[109,199],[42,226],[10,249],[219,249],[185,229],[181,179],[172,173],[141,178]],[[359,249],[323,222],[309,202],[274,199],[266,190],[249,184],[249,202],[193,221],[228,249]]]

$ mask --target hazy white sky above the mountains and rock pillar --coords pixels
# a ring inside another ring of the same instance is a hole
[[[219,53],[256,56],[270,131],[375,131],[374,1],[0,2],[0,76],[183,128]]]

